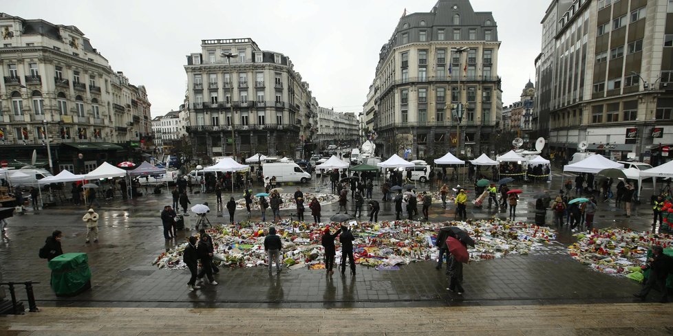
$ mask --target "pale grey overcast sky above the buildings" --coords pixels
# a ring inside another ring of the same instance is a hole
[[[436,0],[5,1],[0,11],[23,19],[76,25],[115,71],[145,85],[152,115],[178,109],[185,55],[202,39],[253,38],[290,56],[321,107],[362,111],[378,52],[405,8],[429,12]],[[502,101],[519,99],[540,53],[540,21],[550,0],[471,0],[493,12],[502,41]]]

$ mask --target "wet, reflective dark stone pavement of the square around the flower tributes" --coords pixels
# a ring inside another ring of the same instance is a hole
[[[533,223],[535,212],[532,195],[544,190],[559,190],[555,183],[510,183],[511,188],[524,190],[517,207],[517,221]],[[313,191],[314,184],[301,186]],[[294,192],[296,186],[284,186],[285,192]],[[325,188],[325,187],[322,187]],[[650,185],[651,188],[651,185]],[[421,187],[420,191],[427,189]],[[381,199],[376,187],[374,199]],[[261,187],[253,188],[253,194]],[[648,192],[645,186],[645,192]],[[650,190],[651,192],[651,190]],[[552,193],[554,194],[554,193]],[[227,199],[230,194],[223,194]],[[473,197],[473,192],[469,194]],[[234,194],[236,199],[240,192]],[[191,203],[208,201],[215,204],[215,194],[191,194]],[[649,199],[649,197],[648,197]],[[133,201],[110,201],[97,209],[100,242],[85,244],[85,225],[82,206],[64,205],[29,211],[9,219],[6,235],[0,242],[0,267],[6,281],[38,281],[36,298],[41,306],[93,307],[174,307],[174,308],[377,308],[402,306],[480,306],[520,304],[588,304],[634,302],[632,293],[639,290],[637,282],[608,276],[590,270],[568,255],[566,246],[573,241],[567,227],[559,232],[559,243],[546,246],[527,256],[473,262],[464,269],[465,293],[456,295],[447,291],[444,270],[435,269],[435,262],[417,262],[400,267],[398,271],[377,271],[358,267],[357,275],[325,276],[324,270],[307,268],[284,269],[279,275],[268,276],[264,267],[222,269],[215,276],[220,284],[208,284],[200,291],[189,292],[186,281],[189,271],[157,269],[151,262],[162,251],[167,251],[194,231],[178,232],[178,239],[164,242],[159,219],[164,205],[171,204],[171,195],[149,194]],[[394,220],[394,204],[381,203],[379,221]],[[350,206],[352,204],[349,203]],[[323,205],[323,219],[336,213],[336,203]],[[453,219],[453,206],[440,208],[434,200],[431,221]],[[634,214],[627,219],[614,202],[599,204],[596,227],[632,227],[645,230],[651,224],[648,204],[634,205]],[[268,214],[268,212],[267,212]],[[290,216],[293,210],[281,215]],[[487,219],[508,214],[468,206],[468,216]],[[250,215],[259,221],[259,212]],[[308,216],[307,216],[308,217]],[[194,216],[191,216],[194,219]],[[211,223],[224,219],[215,214]],[[244,210],[236,212],[236,220],[246,220]],[[365,216],[362,218],[365,220]],[[551,223],[548,211],[547,223]],[[193,222],[192,222],[193,223]],[[92,269],[92,290],[74,298],[57,298],[49,287],[50,271],[46,262],[38,258],[38,250],[52,230],[64,232],[65,252],[85,252]],[[21,293],[23,297],[23,293]]]

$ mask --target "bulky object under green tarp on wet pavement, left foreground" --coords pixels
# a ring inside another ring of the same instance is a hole
[[[75,296],[91,288],[89,257],[85,253],[61,254],[49,260],[56,296]]]

